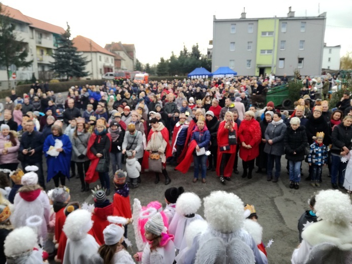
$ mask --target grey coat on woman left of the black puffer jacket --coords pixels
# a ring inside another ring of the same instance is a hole
[[[281,156],[285,153],[285,148],[283,144],[283,138],[285,136],[286,125],[284,123],[274,125],[272,122],[268,124],[267,129],[265,130],[265,139],[267,143],[264,146],[264,152]],[[268,140],[271,139],[273,144],[270,145]]]

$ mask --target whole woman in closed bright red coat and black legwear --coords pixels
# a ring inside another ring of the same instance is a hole
[[[254,112],[247,111],[244,114],[244,120],[241,122],[238,130],[240,140],[240,158],[242,159],[243,175],[242,178],[252,178],[254,169],[254,160],[259,155],[259,144],[262,139],[262,132],[259,122],[254,119]],[[247,174],[247,169],[248,174]]]

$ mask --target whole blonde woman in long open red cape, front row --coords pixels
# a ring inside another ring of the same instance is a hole
[[[234,167],[236,157],[236,144],[230,145],[229,132],[235,131],[237,139],[237,124],[234,121],[234,115],[228,111],[225,113],[225,118],[219,124],[217,130],[217,163],[216,174],[220,177],[220,182],[225,184],[225,180],[231,181],[231,174]]]

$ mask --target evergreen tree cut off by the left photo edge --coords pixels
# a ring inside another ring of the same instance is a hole
[[[0,66],[6,67],[9,89],[11,88],[11,65],[15,65],[17,68],[27,68],[33,63],[33,60],[26,60],[28,56],[27,44],[17,38],[15,29],[15,23],[12,23],[12,19],[6,10],[3,10],[3,5],[0,3]]]

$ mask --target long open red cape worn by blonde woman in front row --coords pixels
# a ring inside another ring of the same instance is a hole
[[[225,128],[226,121],[222,121],[219,124],[219,129],[217,130],[217,145],[218,147],[223,147],[229,145],[229,129]],[[233,122],[233,129],[236,131],[236,137],[238,137],[237,124]],[[238,141],[238,138],[237,138]],[[220,163],[223,153],[230,153],[230,159],[228,160],[225,169],[223,170],[223,175],[225,177],[231,177],[234,168],[235,158],[236,158],[236,148],[237,145],[230,145],[229,150],[220,151],[217,150],[217,162],[216,162],[216,175],[220,177]]]

